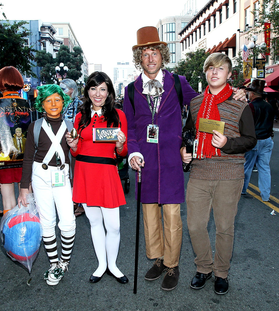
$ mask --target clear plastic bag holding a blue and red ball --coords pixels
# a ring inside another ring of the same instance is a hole
[[[34,194],[26,195],[27,207],[14,207],[1,220],[0,233],[6,251],[31,272],[42,240],[42,227]]]

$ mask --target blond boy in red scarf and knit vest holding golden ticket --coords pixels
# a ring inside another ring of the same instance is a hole
[[[197,257],[197,273],[190,287],[202,289],[215,275],[214,292],[229,291],[228,270],[234,239],[234,220],[244,182],[244,153],[257,143],[251,109],[245,102],[232,98],[227,83],[232,63],[228,56],[213,53],[205,61],[203,71],[208,86],[204,94],[191,100],[190,112],[183,131],[194,128],[198,146],[187,184],[187,225]],[[224,135],[199,131],[199,119],[225,122]],[[182,160],[189,163],[192,154],[180,149]],[[207,232],[211,208],[216,225],[215,258]]]

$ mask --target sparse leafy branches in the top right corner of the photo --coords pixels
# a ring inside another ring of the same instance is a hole
[[[264,0],[263,6],[260,6],[257,10],[252,11],[255,17],[256,26],[252,28],[246,38],[251,39],[253,35],[264,33],[264,23],[271,23],[271,31],[274,34],[274,38],[270,40],[270,52],[271,58],[274,59],[279,55],[279,1],[278,0]],[[255,48],[254,52],[257,56],[259,51],[266,52],[265,48]]]

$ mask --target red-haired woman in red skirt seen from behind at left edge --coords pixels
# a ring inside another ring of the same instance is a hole
[[[23,79],[20,72],[12,66],[0,70],[0,91],[5,98],[19,98],[18,90],[23,88]],[[25,138],[24,138],[25,139]],[[16,206],[15,183],[20,188],[22,167],[0,169],[0,187],[4,214]],[[0,211],[0,215],[3,215]]]

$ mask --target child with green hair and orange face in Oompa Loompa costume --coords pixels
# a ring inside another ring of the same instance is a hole
[[[56,285],[68,270],[75,239],[76,222],[73,214],[70,183],[70,156],[65,134],[71,131],[72,122],[62,119],[62,110],[71,98],[57,85],[38,86],[35,108],[46,112],[28,128],[21,191],[18,205],[26,206],[29,184],[39,205],[43,241],[50,261],[50,269],[44,277],[47,284]],[[62,254],[58,259],[55,235],[57,209],[61,230]]]

